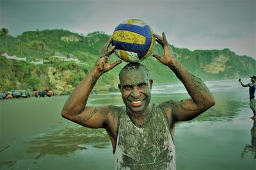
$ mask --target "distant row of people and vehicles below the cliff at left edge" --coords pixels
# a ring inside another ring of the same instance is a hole
[[[51,97],[54,96],[54,92],[52,90],[35,90],[31,93],[29,90],[13,90],[13,91],[6,91],[2,92],[0,96],[0,100],[5,99],[15,99],[15,98],[28,98],[28,97]]]

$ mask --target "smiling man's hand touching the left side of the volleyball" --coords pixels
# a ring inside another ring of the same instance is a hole
[[[100,57],[94,68],[95,71],[99,72],[99,74],[103,74],[108,72],[109,70],[113,69],[113,67],[117,66],[118,64],[120,64],[122,62],[122,60],[116,60],[113,63],[109,62],[109,56],[114,52],[115,50],[115,46],[112,46],[109,50],[109,45],[111,44],[112,38],[109,39],[108,43],[106,43],[106,45],[104,46],[103,50],[102,50],[102,57]]]

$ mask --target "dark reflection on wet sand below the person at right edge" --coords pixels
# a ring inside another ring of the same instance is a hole
[[[251,145],[246,144],[244,146],[244,150],[241,153],[241,157],[243,158],[245,153],[251,152],[254,155],[254,159],[256,159],[256,121],[253,121],[253,127],[251,129],[252,141]]]

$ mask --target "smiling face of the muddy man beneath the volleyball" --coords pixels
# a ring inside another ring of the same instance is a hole
[[[152,80],[143,69],[131,69],[120,76],[118,85],[125,106],[130,113],[143,113],[151,98]]]

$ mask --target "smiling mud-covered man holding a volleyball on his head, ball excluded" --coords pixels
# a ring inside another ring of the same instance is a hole
[[[148,69],[142,64],[127,64],[120,71],[118,87],[124,107],[86,106],[88,96],[99,77],[120,64],[108,62],[115,46],[108,50],[112,39],[103,49],[105,55],[97,60],[92,71],[67,99],[62,116],[90,128],[104,128],[113,146],[116,169],[176,169],[174,126],[177,122],[198,117],[214,105],[211,92],[204,82],[189,73],[174,57],[163,37],[154,34],[163,46],[164,56],[153,55],[165,66],[170,67],[188,90],[191,99],[180,102],[166,101],[151,104],[153,81]]]

